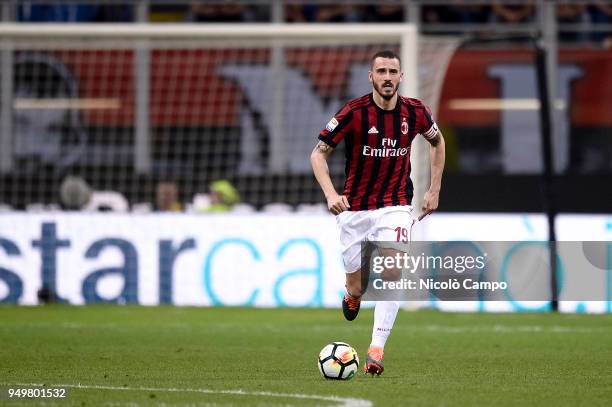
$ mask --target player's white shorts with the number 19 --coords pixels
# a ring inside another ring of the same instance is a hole
[[[347,273],[361,268],[361,242],[410,243],[412,206],[387,206],[369,211],[345,211],[336,216],[340,227],[342,260]]]

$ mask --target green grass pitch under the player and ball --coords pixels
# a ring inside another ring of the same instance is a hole
[[[3,306],[0,405],[612,405],[612,315],[400,311],[381,377],[323,379],[319,350],[345,341],[363,362],[371,323],[372,310]],[[34,384],[68,397],[7,398]]]

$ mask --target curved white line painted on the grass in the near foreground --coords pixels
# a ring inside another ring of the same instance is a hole
[[[245,391],[245,390],[211,390],[211,389],[176,389],[163,387],[116,387],[87,384],[42,384],[42,383],[2,383],[2,386],[36,386],[36,387],[67,387],[72,389],[94,389],[94,390],[114,390],[114,391],[156,391],[160,393],[201,393],[201,394],[228,394],[233,396],[257,396],[257,397],[278,397],[294,398],[305,400],[330,401],[334,406],[339,407],[372,407],[370,400],[357,399],[351,397],[338,396],[319,396],[316,394],[301,393],[274,393],[271,391]]]

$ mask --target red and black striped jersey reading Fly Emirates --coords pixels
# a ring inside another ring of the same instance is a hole
[[[383,110],[372,94],[352,99],[327,123],[319,140],[336,147],[344,140],[344,195],[350,210],[410,205],[410,147],[422,134],[433,138],[438,127],[431,110],[418,99],[400,96],[393,110]]]

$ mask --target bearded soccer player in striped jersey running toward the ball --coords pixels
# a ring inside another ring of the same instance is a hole
[[[372,92],[350,100],[327,123],[310,156],[314,175],[327,206],[340,227],[346,271],[344,317],[352,321],[361,303],[361,242],[408,243],[414,224],[411,206],[410,146],[417,135],[429,143],[431,184],[425,193],[419,220],[438,207],[444,169],[444,138],[431,110],[420,100],[397,93],[403,74],[400,58],[392,51],[376,53],[368,78]],[[346,147],[346,181],[342,195],[336,192],[327,157],[342,140]],[[384,248],[383,256],[397,253]],[[400,270],[386,269],[383,279],[399,278]],[[366,373],[380,375],[385,343],[399,309],[397,301],[377,301]]]

